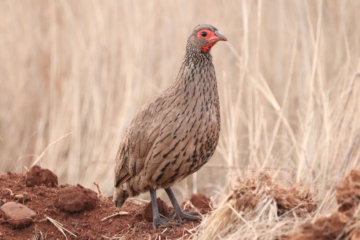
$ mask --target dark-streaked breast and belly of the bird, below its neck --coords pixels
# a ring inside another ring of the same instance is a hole
[[[214,71],[192,69],[153,100],[156,135],[145,160],[145,180],[166,187],[197,171],[215,151],[220,131]]]

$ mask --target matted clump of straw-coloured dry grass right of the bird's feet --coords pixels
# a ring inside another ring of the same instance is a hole
[[[317,208],[314,193],[284,187],[265,173],[238,179],[219,208],[202,222],[199,239],[282,239]]]

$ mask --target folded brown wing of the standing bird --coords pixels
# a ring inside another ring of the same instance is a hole
[[[161,95],[156,95],[145,103],[127,128],[116,155],[115,187],[143,169],[145,158],[158,135],[154,115],[161,111],[162,99]]]

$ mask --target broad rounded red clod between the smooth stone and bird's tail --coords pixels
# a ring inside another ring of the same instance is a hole
[[[65,186],[56,194],[54,205],[64,212],[84,212],[93,210],[98,203],[98,196],[93,190],[81,186]]]

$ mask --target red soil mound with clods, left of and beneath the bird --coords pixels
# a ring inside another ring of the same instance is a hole
[[[141,201],[126,201],[120,209],[114,207],[112,197],[96,196],[94,191],[77,186],[57,186],[56,175],[47,169],[35,167],[27,174],[0,174],[0,203],[18,201],[36,213],[33,223],[23,229],[15,229],[0,216],[0,239],[68,239],[105,240],[113,239],[184,239],[190,236],[186,229],[196,227],[199,222],[186,221],[183,227],[158,227],[154,232],[152,209]],[[51,174],[49,174],[49,172]],[[49,176],[48,181],[45,176]],[[28,187],[29,176],[33,187]],[[55,177],[56,178],[55,178]],[[54,183],[54,187],[51,187]],[[81,202],[82,201],[82,202]],[[162,201],[159,199],[159,201]],[[172,208],[163,204],[164,211]],[[118,214],[116,214],[118,213]],[[113,215],[113,216],[112,216]],[[59,230],[64,232],[64,234]],[[43,238],[41,238],[41,236]],[[46,236],[46,238],[44,238]],[[76,236],[76,237],[75,237]],[[117,238],[115,238],[117,237]]]

